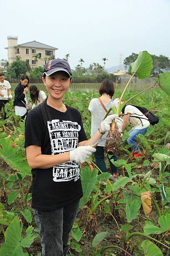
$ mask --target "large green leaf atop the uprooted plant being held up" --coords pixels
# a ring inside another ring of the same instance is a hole
[[[139,79],[149,78],[150,72],[153,69],[153,61],[147,51],[139,52],[135,62],[130,64],[131,72],[136,73]]]

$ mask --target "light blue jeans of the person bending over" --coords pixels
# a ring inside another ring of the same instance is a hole
[[[136,143],[136,137],[138,134],[145,134],[147,131],[147,128],[143,128],[143,129],[131,129],[129,131],[129,137],[127,138],[126,142],[127,144],[132,143],[132,150],[133,152],[139,152],[140,148],[138,147],[137,143]]]

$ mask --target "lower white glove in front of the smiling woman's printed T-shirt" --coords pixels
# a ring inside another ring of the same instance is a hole
[[[96,148],[91,146],[80,146],[70,151],[70,160],[77,163],[85,162],[92,153],[96,152]]]

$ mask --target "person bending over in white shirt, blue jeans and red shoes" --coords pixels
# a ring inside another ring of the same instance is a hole
[[[147,127],[150,126],[150,122],[148,118],[133,105],[125,105],[122,108],[122,113],[125,114],[123,116],[122,132],[125,130],[127,124],[132,126],[126,142],[127,144],[133,144],[132,151],[134,157],[142,157],[143,152],[136,143],[136,137],[138,134],[144,135],[147,132]]]

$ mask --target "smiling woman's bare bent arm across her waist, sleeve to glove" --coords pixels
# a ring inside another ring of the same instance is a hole
[[[70,161],[69,152],[56,155],[41,154],[41,148],[38,145],[26,147],[28,165],[32,169],[48,169],[60,163]]]

